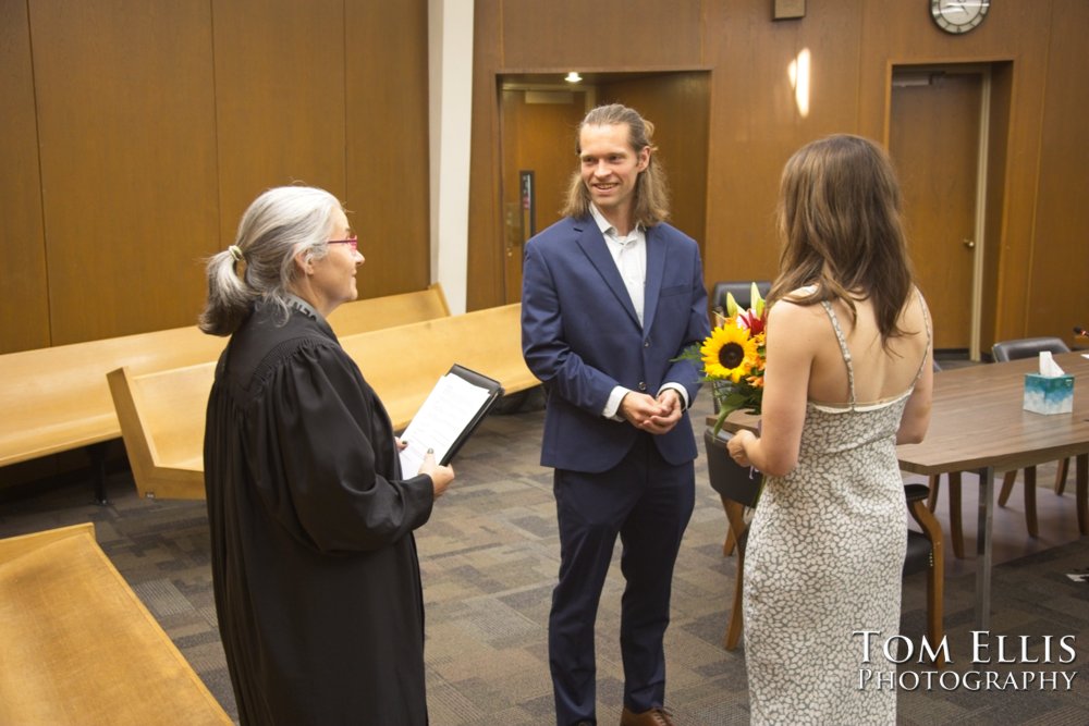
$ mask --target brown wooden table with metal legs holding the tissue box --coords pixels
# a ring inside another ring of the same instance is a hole
[[[976,538],[976,625],[988,629],[991,601],[991,528],[994,471],[1021,469],[1076,456],[1078,501],[1089,487],[1089,359],[1079,353],[1055,356],[1075,377],[1074,411],[1043,416],[1021,408],[1025,373],[1036,358],[971,366],[934,376],[933,416],[926,441],[897,447],[900,466],[923,476],[954,471],[979,475]],[[1087,513],[1078,506],[1078,529]]]

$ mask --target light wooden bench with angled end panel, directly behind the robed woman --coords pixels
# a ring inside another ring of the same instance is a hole
[[[403,430],[427,394],[457,362],[502,383],[507,394],[539,381],[522,358],[521,304],[347,335],[358,364]],[[215,364],[108,376],[129,460],[142,496],[204,499],[204,429]]]

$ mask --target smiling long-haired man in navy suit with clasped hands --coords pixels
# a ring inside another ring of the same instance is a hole
[[[619,104],[578,132],[566,217],[526,245],[522,346],[547,394],[541,464],[553,467],[560,578],[549,616],[558,726],[596,724],[594,623],[616,536],[622,726],[664,709],[670,589],[695,502],[686,414],[699,373],[682,352],[709,332],[699,248],[664,222],[653,126]]]

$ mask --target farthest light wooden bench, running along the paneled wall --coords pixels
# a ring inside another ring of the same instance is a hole
[[[441,286],[340,306],[338,335],[450,315]],[[121,435],[106,373],[134,376],[215,361],[227,339],[196,325],[0,355],[0,467],[89,447],[105,500],[103,444]]]

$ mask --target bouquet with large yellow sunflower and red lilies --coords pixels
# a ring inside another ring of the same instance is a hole
[[[764,327],[768,312],[760,291],[752,283],[751,304],[742,310],[734,296],[726,294],[726,315],[715,316],[715,328],[699,346],[684,356],[702,366],[703,380],[710,381],[719,418],[714,433],[726,417],[738,409],[760,413],[763,399]]]

